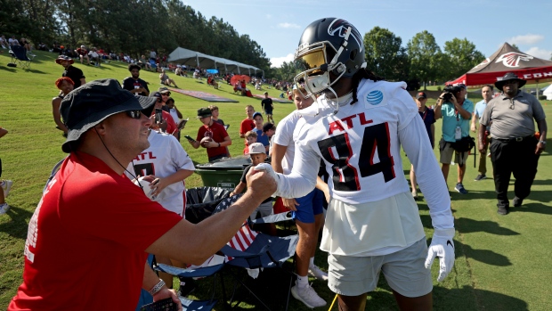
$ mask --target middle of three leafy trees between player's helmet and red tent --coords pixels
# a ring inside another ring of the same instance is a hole
[[[426,83],[433,81],[441,66],[442,56],[441,48],[435,42],[435,37],[424,30],[418,32],[407,45],[407,51],[410,58],[410,78],[418,79]]]

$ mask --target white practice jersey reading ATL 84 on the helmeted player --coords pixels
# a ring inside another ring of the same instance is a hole
[[[301,110],[291,174],[280,176],[277,195],[298,198],[313,190],[320,158],[329,173],[332,199],[346,204],[381,201],[410,192],[402,171],[401,146],[413,163],[435,228],[453,227],[444,178],[418,118],[418,107],[403,82],[363,79],[358,102],[337,114],[324,96]],[[314,116],[318,111],[318,115]]]

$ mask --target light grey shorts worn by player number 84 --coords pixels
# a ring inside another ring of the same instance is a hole
[[[426,256],[426,239],[384,256],[329,255],[328,287],[340,295],[358,296],[374,291],[383,272],[389,286],[402,296],[424,296],[433,290],[431,270],[424,266]]]

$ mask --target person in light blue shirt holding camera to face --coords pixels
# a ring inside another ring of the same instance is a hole
[[[457,86],[451,99],[445,100],[443,92],[435,107],[435,119],[442,118],[442,138],[439,142],[439,150],[441,151],[442,176],[445,182],[449,176],[451,168],[452,155],[454,162],[458,164],[458,178],[454,190],[461,194],[467,194],[466,188],[462,181],[466,173],[466,162],[469,151],[456,151],[452,143],[456,143],[463,137],[469,136],[470,119],[474,112],[474,102],[466,98],[467,88],[465,85]]]

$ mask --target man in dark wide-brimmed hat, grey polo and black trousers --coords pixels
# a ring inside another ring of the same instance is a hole
[[[507,187],[512,173],[515,177],[513,205],[517,208],[531,192],[540,153],[546,148],[546,115],[535,96],[519,90],[525,83],[512,72],[497,81],[494,85],[502,94],[487,103],[479,122],[480,152],[485,145],[485,129],[491,126],[491,162],[500,215],[509,212]],[[539,138],[535,137],[533,119],[539,127]]]

